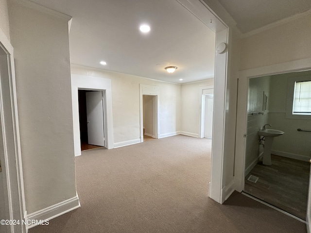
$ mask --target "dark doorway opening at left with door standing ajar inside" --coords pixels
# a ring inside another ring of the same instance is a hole
[[[105,146],[104,93],[78,90],[81,150]]]

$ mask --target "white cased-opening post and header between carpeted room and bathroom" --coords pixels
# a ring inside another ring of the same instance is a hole
[[[218,45],[224,43],[226,48],[223,52],[215,54],[215,72],[214,72],[214,114],[213,114],[213,136],[212,155],[211,155],[211,174],[208,196],[223,203],[234,191],[233,177],[232,182],[225,180],[225,132],[228,131],[228,125],[225,125],[229,113],[226,111],[228,102],[226,101],[229,92],[228,83],[228,55],[231,52],[231,36],[235,21],[226,13],[223,6],[215,4],[213,0],[176,0],[193,16],[197,17],[209,29],[216,33],[215,50]],[[228,25],[214,11],[221,14]],[[230,30],[229,30],[230,25]],[[200,98],[201,99],[201,98]],[[200,106],[201,107],[201,106]],[[215,117],[217,116],[217,117]]]

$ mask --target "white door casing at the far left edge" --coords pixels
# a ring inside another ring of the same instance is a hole
[[[13,47],[0,30],[0,219],[21,222],[26,207],[12,53]],[[0,224],[0,232],[24,233],[26,228],[24,224]]]

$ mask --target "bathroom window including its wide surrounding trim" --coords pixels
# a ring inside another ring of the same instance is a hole
[[[311,119],[311,77],[300,76],[288,81],[286,118]]]

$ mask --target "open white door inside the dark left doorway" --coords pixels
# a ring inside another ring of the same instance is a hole
[[[88,144],[104,147],[103,91],[86,92]]]

